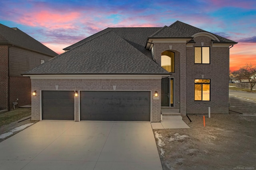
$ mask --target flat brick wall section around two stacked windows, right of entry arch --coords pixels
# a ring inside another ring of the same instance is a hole
[[[196,44],[187,47],[187,113],[228,113],[229,48],[212,47],[211,38],[198,36]],[[210,64],[194,64],[194,47],[210,47]],[[203,76],[202,76],[203,75]],[[194,101],[194,79],[210,79],[210,101]]]

